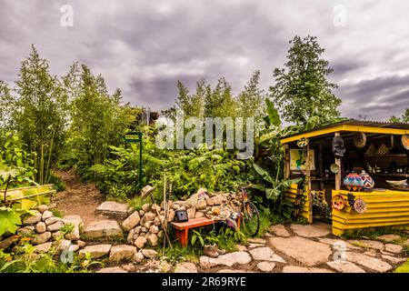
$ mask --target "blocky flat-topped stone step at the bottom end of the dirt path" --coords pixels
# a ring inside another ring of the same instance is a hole
[[[85,226],[84,235],[88,238],[118,238],[123,237],[121,227],[115,220],[99,220]]]

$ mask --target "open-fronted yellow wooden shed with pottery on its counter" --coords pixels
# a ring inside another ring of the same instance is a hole
[[[336,236],[409,226],[409,124],[348,119],[284,136],[281,143],[285,177],[304,178],[286,198],[301,201],[299,214],[309,223],[324,220]]]

